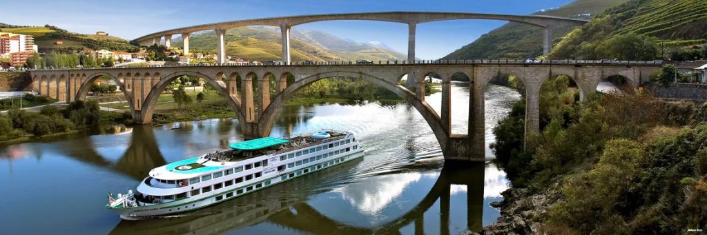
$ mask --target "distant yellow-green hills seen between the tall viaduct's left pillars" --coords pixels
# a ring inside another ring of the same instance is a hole
[[[189,49],[193,52],[216,53],[216,35],[204,32],[192,35]],[[280,29],[273,27],[242,27],[226,32],[226,55],[249,61],[280,60]],[[173,40],[174,47],[182,47],[180,39]],[[406,56],[389,49],[342,40],[325,32],[292,30],[292,61],[371,61],[402,60]]]

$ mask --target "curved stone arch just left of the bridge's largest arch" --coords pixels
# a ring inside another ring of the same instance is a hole
[[[243,120],[243,114],[240,112],[240,100],[238,97],[235,97],[235,95],[230,95],[228,93],[228,90],[226,90],[226,87],[221,85],[221,83],[218,83],[216,80],[211,78],[211,76],[207,76],[204,73],[199,73],[199,72],[194,72],[194,71],[179,71],[175,73],[170,73],[166,76],[163,76],[160,79],[160,81],[153,87],[150,92],[145,96],[145,100],[143,102],[143,107],[140,109],[139,112],[140,116],[135,120],[136,123],[150,123],[152,121],[152,114],[155,109],[155,105],[157,104],[157,100],[160,97],[160,94],[162,93],[165,88],[172,83],[173,80],[181,77],[181,76],[195,76],[198,78],[203,78],[208,82],[210,85],[214,86],[218,92],[221,92],[226,97],[226,102],[230,104],[230,107],[233,108],[235,111],[235,114],[238,116],[238,120]]]

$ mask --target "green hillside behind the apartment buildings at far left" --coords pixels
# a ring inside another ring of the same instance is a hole
[[[83,49],[107,49],[112,51],[135,51],[137,47],[119,37],[105,35],[83,35],[69,32],[52,25],[17,26],[0,23],[0,32],[32,35],[40,52],[76,52]],[[62,44],[57,44],[62,40]]]

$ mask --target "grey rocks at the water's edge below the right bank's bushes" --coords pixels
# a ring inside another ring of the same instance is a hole
[[[501,193],[503,201],[491,203],[501,208],[501,217],[474,234],[536,234],[542,226],[540,220],[547,217],[548,208],[560,198],[561,193],[555,188],[539,193],[531,193],[527,188],[508,188]]]

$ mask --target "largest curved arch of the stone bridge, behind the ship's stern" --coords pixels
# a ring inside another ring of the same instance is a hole
[[[382,88],[390,90],[391,92],[394,92],[395,95],[401,97],[403,100],[405,100],[407,103],[415,107],[415,109],[417,109],[417,111],[423,116],[425,121],[432,129],[442,149],[445,150],[445,146],[447,145],[448,140],[447,133],[443,131],[443,128],[440,124],[440,117],[434,111],[434,109],[432,109],[432,107],[430,107],[426,102],[417,100],[415,94],[405,89],[402,85],[391,84],[387,82],[384,78],[379,78],[368,73],[361,73],[356,71],[331,71],[325,73],[317,73],[312,76],[296,80],[295,83],[293,83],[291,86],[289,86],[279,95],[277,95],[272,100],[270,105],[264,110],[264,112],[262,112],[262,116],[259,117],[258,121],[259,129],[257,131],[259,131],[259,135],[269,135],[277,115],[279,114],[279,112],[281,112],[282,106],[287,102],[287,100],[290,100],[298,90],[305,88],[305,86],[310,85],[311,83],[314,83],[317,80],[332,77],[361,78],[363,80],[367,80],[371,83],[374,83],[375,85],[378,85]]]

